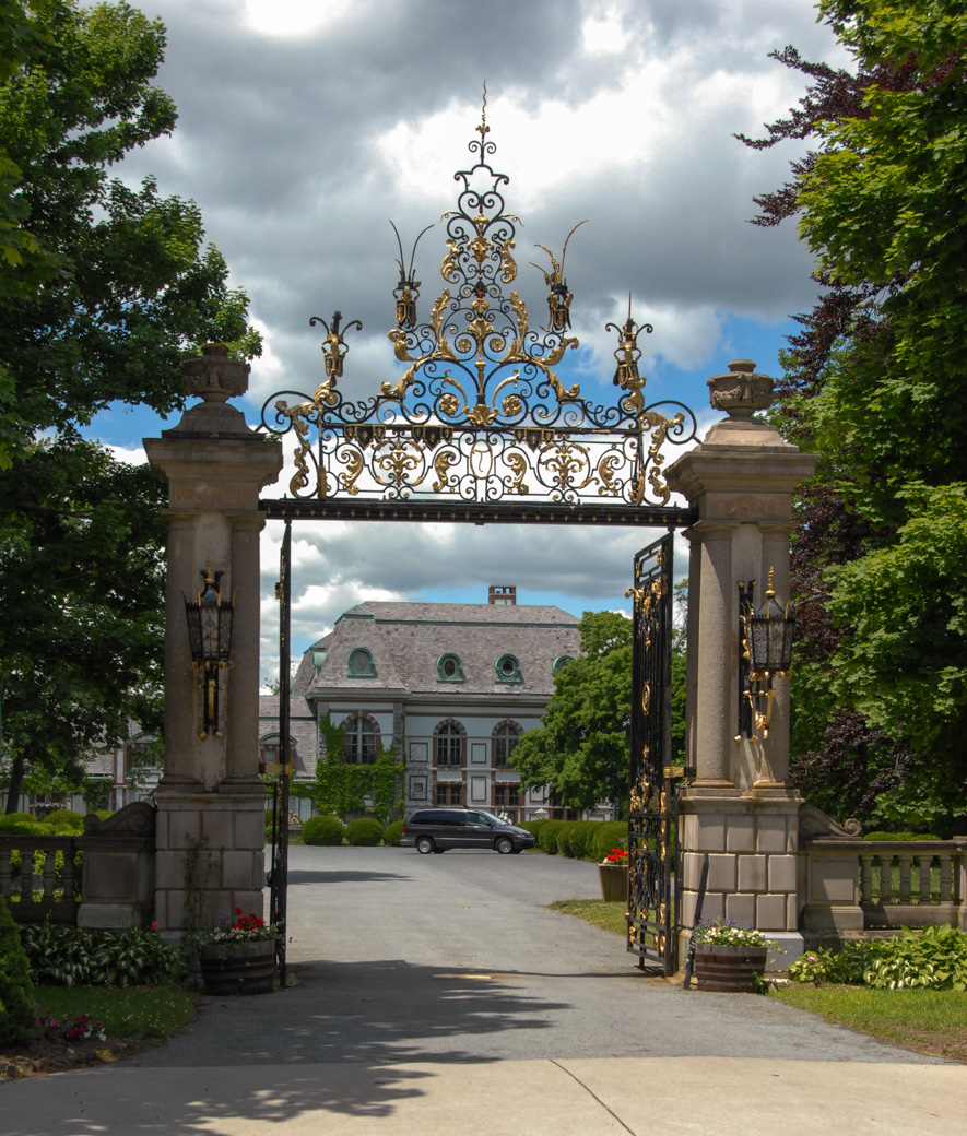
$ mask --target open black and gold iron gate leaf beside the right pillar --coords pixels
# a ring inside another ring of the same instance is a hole
[[[672,903],[677,810],[672,778],[673,541],[634,559],[631,762],[628,767],[628,951],[677,970]]]

